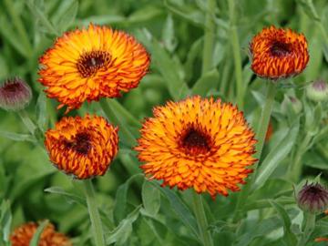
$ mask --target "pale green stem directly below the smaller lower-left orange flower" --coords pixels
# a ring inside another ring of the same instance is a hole
[[[96,246],[105,246],[104,232],[97,210],[97,201],[91,179],[83,180],[85,195],[87,199],[87,210],[91,220],[91,227]]]

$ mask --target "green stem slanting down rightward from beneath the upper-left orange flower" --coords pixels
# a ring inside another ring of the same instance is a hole
[[[120,118],[115,111],[111,108],[110,104],[108,104],[108,101],[106,99],[101,99],[99,101],[100,107],[105,112],[108,119],[117,125],[119,127],[119,132],[122,134],[122,137],[125,141],[125,144],[127,144],[129,147],[133,147],[136,145],[136,138],[133,136],[131,131],[126,127],[125,119]]]

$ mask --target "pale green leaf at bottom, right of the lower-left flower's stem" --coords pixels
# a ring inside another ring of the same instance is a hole
[[[127,218],[121,220],[116,229],[105,235],[107,245],[114,242],[116,242],[115,245],[123,245],[126,241],[128,241],[133,229],[132,224],[138,219],[140,209],[141,205],[129,213]]]

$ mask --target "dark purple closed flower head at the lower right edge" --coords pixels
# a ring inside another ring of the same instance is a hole
[[[303,211],[323,212],[328,209],[328,190],[319,183],[306,183],[297,194],[297,203]]]

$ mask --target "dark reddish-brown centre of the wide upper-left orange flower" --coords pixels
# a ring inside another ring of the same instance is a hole
[[[110,62],[110,55],[106,51],[90,51],[77,60],[77,70],[82,77],[91,77],[97,70],[106,67]]]

